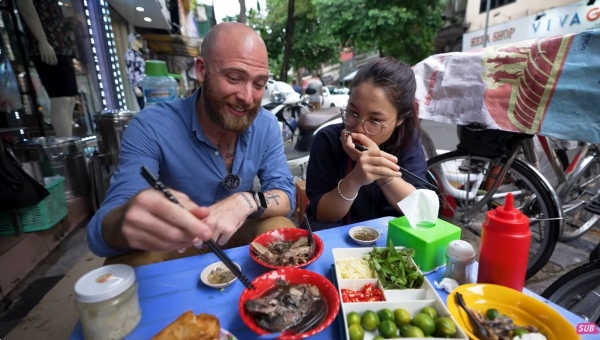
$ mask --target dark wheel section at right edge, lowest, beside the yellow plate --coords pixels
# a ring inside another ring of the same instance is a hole
[[[600,260],[583,264],[554,281],[542,297],[600,326]]]

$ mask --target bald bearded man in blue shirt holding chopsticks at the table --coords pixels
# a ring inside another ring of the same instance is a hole
[[[267,49],[237,22],[212,28],[196,59],[202,83],[192,96],[138,113],[121,143],[119,167],[88,225],[88,244],[105,264],[132,266],[248,244],[294,227],[295,186],[273,114],[261,108]],[[185,208],[149,188],[158,174]],[[262,192],[253,192],[254,178]],[[186,249],[182,252],[182,249]]]

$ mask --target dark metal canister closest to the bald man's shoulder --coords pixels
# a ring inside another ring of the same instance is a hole
[[[110,155],[115,160],[119,158],[123,134],[135,114],[134,111],[104,110],[95,116],[101,154]]]

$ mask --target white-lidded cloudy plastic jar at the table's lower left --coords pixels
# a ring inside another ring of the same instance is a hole
[[[133,268],[123,264],[94,269],[75,283],[75,306],[86,340],[123,339],[142,317]]]

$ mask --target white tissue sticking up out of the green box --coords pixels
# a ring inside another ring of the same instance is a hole
[[[440,201],[433,190],[418,189],[398,202],[398,207],[413,228],[436,224]]]

